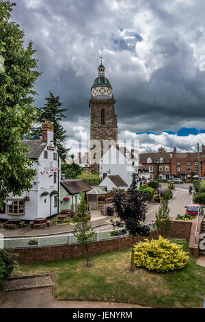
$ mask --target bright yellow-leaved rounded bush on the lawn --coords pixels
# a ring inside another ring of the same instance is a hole
[[[189,261],[182,246],[169,242],[159,236],[159,239],[146,239],[135,245],[135,266],[144,267],[149,271],[167,272],[183,269]]]

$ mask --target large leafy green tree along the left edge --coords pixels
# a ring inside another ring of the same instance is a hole
[[[9,193],[29,190],[36,172],[25,156],[29,148],[20,140],[29,135],[36,120],[33,86],[40,73],[35,70],[32,42],[25,48],[24,32],[10,21],[15,5],[0,0],[0,203]]]

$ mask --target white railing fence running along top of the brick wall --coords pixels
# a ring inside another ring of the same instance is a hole
[[[150,230],[156,229],[155,223],[145,224],[150,227]],[[3,235],[2,235],[3,236]],[[106,240],[110,238],[123,238],[128,234],[120,234],[120,230],[105,230],[102,232],[95,232],[94,240]],[[2,240],[3,239],[3,240]],[[43,247],[52,245],[71,245],[77,243],[77,239],[73,234],[60,234],[53,236],[32,236],[20,238],[2,238],[0,236],[0,243],[5,249],[9,248],[25,248],[25,247]]]

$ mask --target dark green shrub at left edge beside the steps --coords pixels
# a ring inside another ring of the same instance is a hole
[[[12,250],[0,250],[0,284],[3,280],[10,277],[16,265],[16,255]]]

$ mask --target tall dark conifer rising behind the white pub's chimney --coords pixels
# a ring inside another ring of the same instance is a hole
[[[59,96],[54,96],[53,93],[49,92],[49,97],[45,98],[46,103],[41,108],[38,109],[38,124],[42,124],[45,120],[48,120],[54,128],[53,141],[54,145],[59,151],[59,156],[62,160],[66,158],[66,153],[69,149],[66,149],[63,145],[66,139],[66,131],[64,127],[60,125],[62,118],[66,117],[64,112],[67,108],[61,108],[62,103],[59,101]],[[42,129],[40,127],[32,127],[31,129],[31,138],[38,139],[42,137]]]

